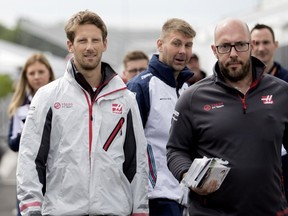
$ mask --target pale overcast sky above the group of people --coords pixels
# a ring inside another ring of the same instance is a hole
[[[8,0],[0,6],[0,23],[13,27],[22,17],[44,24],[63,22],[79,10],[98,13],[108,26],[161,28],[172,17],[204,26],[243,11],[261,0]]]

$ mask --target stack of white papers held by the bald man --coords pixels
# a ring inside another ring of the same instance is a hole
[[[210,181],[216,180],[219,188],[230,171],[227,164],[228,161],[219,158],[196,158],[181,183],[187,187],[202,188]]]

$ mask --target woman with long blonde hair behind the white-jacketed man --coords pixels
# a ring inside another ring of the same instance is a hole
[[[43,53],[34,53],[26,60],[8,107],[8,145],[12,151],[19,150],[22,129],[33,96],[40,87],[54,79],[53,69]],[[18,203],[17,210],[20,216]]]

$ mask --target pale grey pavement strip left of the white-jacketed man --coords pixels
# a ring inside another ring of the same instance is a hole
[[[0,216],[16,215],[17,153],[7,150],[0,161]]]

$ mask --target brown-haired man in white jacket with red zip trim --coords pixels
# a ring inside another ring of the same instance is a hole
[[[21,135],[21,214],[148,216],[147,142],[135,95],[101,60],[106,25],[79,11],[65,32],[73,57],[37,91]]]

